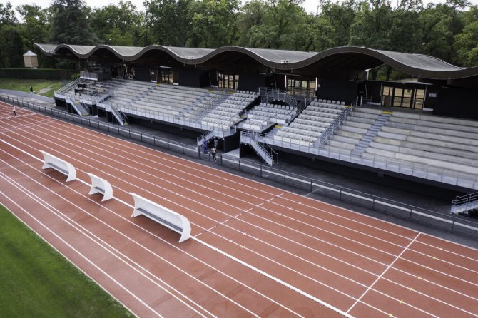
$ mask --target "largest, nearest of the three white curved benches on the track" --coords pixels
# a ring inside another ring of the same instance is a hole
[[[179,242],[188,240],[191,233],[191,225],[189,220],[167,207],[158,205],[153,201],[141,197],[135,193],[130,193],[134,199],[134,210],[131,217],[137,217],[138,215],[144,215],[149,217],[169,229],[178,232],[181,237]]]

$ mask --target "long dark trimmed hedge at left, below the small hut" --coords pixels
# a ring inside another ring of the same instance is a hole
[[[0,78],[70,80],[76,70],[52,68],[0,68]]]

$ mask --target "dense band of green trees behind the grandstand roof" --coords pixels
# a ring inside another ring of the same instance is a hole
[[[303,1],[251,0],[241,6],[239,0],[146,0],[146,11],[139,12],[131,1],[91,9],[81,0],[55,0],[47,9],[18,7],[21,22],[7,2],[0,4],[0,39],[9,43],[0,46],[0,67],[21,67],[33,41],[298,51],[353,45],[477,65],[478,9],[465,0],[426,7],[421,0],[320,0],[317,14],[306,14]],[[77,60],[41,53],[39,66],[79,67]]]

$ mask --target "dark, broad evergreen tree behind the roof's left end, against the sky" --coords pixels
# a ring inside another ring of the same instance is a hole
[[[51,42],[96,45],[98,38],[88,19],[89,8],[81,0],[55,0],[51,4],[53,19]]]

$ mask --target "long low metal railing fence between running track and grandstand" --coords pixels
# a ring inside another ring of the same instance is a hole
[[[31,108],[34,111],[47,113],[65,120],[71,120],[74,123],[88,125],[92,128],[107,131],[108,133],[120,135],[132,140],[155,145],[159,148],[171,150],[193,158],[209,161],[211,160],[210,154],[201,153],[200,149],[194,145],[184,145],[183,143],[177,143],[175,141],[156,137],[155,135],[150,135],[148,133],[141,133],[128,128],[120,127],[118,125],[113,125],[111,123],[104,123],[96,119],[59,111],[55,108],[38,106],[33,103],[21,101],[18,98],[10,98],[9,96],[0,95],[0,100],[6,101],[7,103],[13,103],[17,106]],[[228,155],[220,155],[218,164],[227,168],[240,170],[245,173],[258,175],[260,178],[273,180],[285,185],[293,186],[295,188],[307,190],[312,193],[325,195],[330,198],[360,205],[370,210],[394,215],[395,217],[400,217],[404,220],[410,220],[412,222],[435,227],[439,230],[452,232],[457,235],[478,237],[478,222],[472,222],[452,215],[444,215],[442,213],[422,209],[420,207],[407,205],[402,202],[380,198],[368,193],[362,193],[357,190],[343,188],[339,185],[325,183],[320,180],[307,178],[294,173],[288,173],[287,171],[270,168],[266,165],[261,165],[259,163],[254,163],[249,160],[242,160],[240,158],[235,158]]]

